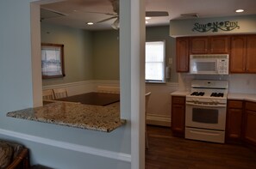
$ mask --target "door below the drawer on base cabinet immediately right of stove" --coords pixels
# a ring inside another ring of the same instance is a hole
[[[226,141],[240,142],[242,128],[242,109],[228,108],[227,125],[226,125]]]

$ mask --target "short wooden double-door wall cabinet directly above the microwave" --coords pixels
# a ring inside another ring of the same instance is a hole
[[[190,54],[229,53],[229,36],[203,36],[190,38]]]

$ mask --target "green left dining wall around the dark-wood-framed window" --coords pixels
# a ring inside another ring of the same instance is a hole
[[[63,78],[43,80],[43,86],[93,79],[91,32],[41,22],[41,42],[64,44]]]

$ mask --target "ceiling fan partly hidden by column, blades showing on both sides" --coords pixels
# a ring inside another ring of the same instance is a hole
[[[112,4],[113,11],[115,12],[115,14],[103,13],[105,15],[110,15],[111,17],[104,19],[102,21],[97,21],[97,23],[116,19],[116,21],[114,21],[111,24],[111,27],[113,27],[114,29],[119,29],[119,0],[109,0],[109,2]],[[147,17],[159,17],[159,16],[168,16],[168,15],[169,14],[166,11],[146,11]]]

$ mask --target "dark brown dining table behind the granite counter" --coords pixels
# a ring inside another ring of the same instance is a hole
[[[108,106],[110,104],[119,102],[120,94],[90,92],[85,94],[72,95],[58,100],[76,102],[84,105]]]

